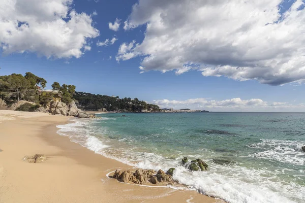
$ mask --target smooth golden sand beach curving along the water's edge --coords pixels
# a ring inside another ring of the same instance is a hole
[[[221,202],[195,191],[143,187],[106,177],[130,166],[95,154],[56,125],[67,116],[0,110],[0,202]],[[25,155],[47,155],[27,163]]]

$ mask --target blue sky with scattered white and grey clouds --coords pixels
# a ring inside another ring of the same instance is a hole
[[[161,108],[305,112],[304,0],[2,0],[0,75]]]

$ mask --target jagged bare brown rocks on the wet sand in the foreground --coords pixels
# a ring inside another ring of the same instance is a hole
[[[155,173],[156,172],[154,170],[142,170],[142,169],[138,169],[134,173],[132,173],[131,171],[120,172],[116,170],[112,178],[120,182],[124,182],[124,183],[132,182],[135,184],[145,184],[147,182],[157,184],[158,182],[161,183],[161,182],[172,181],[171,175],[165,174],[164,171],[162,170],[159,170],[156,176],[154,176]]]

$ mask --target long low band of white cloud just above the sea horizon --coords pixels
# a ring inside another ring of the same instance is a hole
[[[305,111],[304,104],[292,105],[288,103],[268,103],[259,98],[241,99],[231,98],[226,100],[212,100],[208,98],[194,98],[187,100],[154,100],[153,104],[161,108],[174,109],[199,109],[211,111]]]

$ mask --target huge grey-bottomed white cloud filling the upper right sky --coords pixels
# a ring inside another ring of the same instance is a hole
[[[284,9],[287,2],[290,7]],[[142,71],[179,75],[198,70],[203,76],[269,85],[303,81],[304,4],[302,0],[139,0],[124,29],[146,25],[145,38],[118,53],[117,59],[143,56]]]

